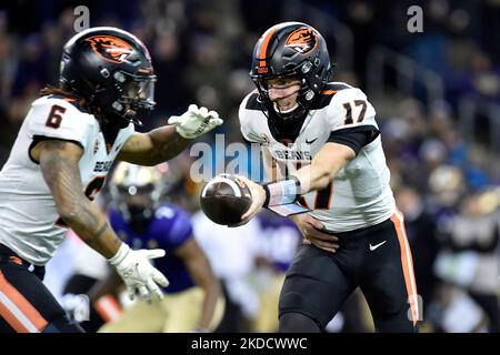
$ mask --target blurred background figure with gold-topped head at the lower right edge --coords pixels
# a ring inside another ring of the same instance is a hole
[[[442,231],[443,247],[438,254],[434,271],[447,284],[441,287],[441,295],[448,293],[451,302],[442,312],[441,331],[500,332],[499,278],[496,277],[500,270],[499,205],[498,189],[471,194],[462,200],[459,213]],[[472,305],[462,308],[467,303]],[[463,320],[469,322],[458,322],[458,315],[449,312],[453,308],[462,308]]]

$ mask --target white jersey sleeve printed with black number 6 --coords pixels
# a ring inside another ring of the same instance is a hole
[[[70,141],[86,150],[90,129],[89,116],[68,101],[43,98],[33,103],[29,115],[29,131],[37,140]]]

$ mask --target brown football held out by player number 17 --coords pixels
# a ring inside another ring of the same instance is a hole
[[[251,203],[250,190],[230,174],[214,176],[201,190],[201,210],[217,224],[232,225],[241,222],[241,216]]]

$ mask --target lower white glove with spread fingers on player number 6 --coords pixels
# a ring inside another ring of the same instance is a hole
[[[163,292],[158,287],[169,285],[167,277],[150,263],[150,258],[164,256],[164,250],[132,251],[129,245],[122,243],[117,254],[109,258],[109,263],[117,267],[117,272],[127,286],[130,298],[137,293],[148,302],[151,302],[151,293],[159,300],[163,300]]]

